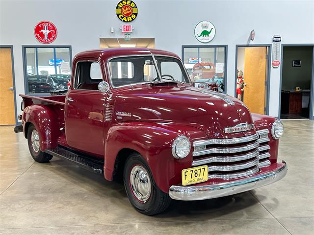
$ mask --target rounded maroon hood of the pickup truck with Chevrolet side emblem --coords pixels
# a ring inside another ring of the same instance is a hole
[[[116,94],[113,119],[189,125],[203,130],[209,138],[218,139],[252,134],[225,133],[224,128],[253,123],[249,110],[238,99],[180,83],[121,90]]]

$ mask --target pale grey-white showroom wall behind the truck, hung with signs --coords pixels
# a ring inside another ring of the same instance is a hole
[[[34,26],[51,21],[58,30],[52,45],[71,45],[73,55],[99,47],[99,38],[121,37],[118,0],[0,0],[0,45],[13,45],[17,94],[24,93],[22,45],[41,45]],[[182,45],[203,45],[195,25],[208,20],[216,36],[208,45],[228,45],[227,93],[235,90],[235,45],[314,43],[313,0],[135,0],[138,16],[131,37],[155,38],[156,48],[181,56]],[[110,27],[115,33],[110,34]],[[249,42],[255,30],[254,42]],[[270,71],[269,114],[278,116],[280,68]],[[19,103],[20,99],[18,99]],[[18,105],[19,106],[19,105]],[[18,109],[18,112],[21,113]]]

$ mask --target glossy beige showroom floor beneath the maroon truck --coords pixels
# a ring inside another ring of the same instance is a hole
[[[119,183],[57,158],[35,163],[23,134],[0,126],[0,234],[313,234],[314,121],[284,124],[283,180],[219,199],[173,201],[157,216],[136,212]]]

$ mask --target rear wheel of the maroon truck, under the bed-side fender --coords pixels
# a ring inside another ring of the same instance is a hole
[[[39,147],[39,134],[34,125],[30,125],[27,130],[28,149],[32,158],[38,163],[48,163],[52,155],[42,152]]]

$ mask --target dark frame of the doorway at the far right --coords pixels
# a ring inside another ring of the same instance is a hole
[[[311,90],[310,90],[310,107],[309,107],[309,119],[314,120],[314,44],[282,44],[281,45],[281,57],[280,57],[280,81],[279,81],[279,108],[278,108],[278,118],[280,119],[281,111],[281,85],[282,85],[282,76],[283,76],[283,56],[284,56],[284,47],[313,47],[312,52],[312,79],[311,79]]]

